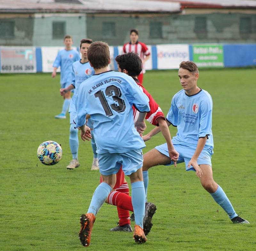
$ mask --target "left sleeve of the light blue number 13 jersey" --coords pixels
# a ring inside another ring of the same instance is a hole
[[[86,122],[86,110],[85,105],[86,102],[86,92],[84,91],[84,85],[80,85],[78,95],[76,97],[76,116],[74,118],[74,122],[76,123],[75,128],[83,126]]]

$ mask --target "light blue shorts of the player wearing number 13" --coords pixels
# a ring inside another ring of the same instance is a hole
[[[131,150],[124,153],[98,153],[100,173],[102,175],[115,174],[121,165],[125,175],[139,170],[143,165],[142,149]]]

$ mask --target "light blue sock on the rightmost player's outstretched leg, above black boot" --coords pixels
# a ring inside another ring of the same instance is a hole
[[[211,194],[212,198],[223,208],[223,210],[228,214],[230,219],[233,219],[237,216],[232,204],[230,203],[227,195],[222,190],[220,185],[215,193]]]

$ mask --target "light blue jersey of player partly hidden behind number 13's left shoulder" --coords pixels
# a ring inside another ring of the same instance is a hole
[[[82,82],[84,82],[87,78],[92,77],[95,73],[94,69],[90,66],[89,62],[81,63],[80,60],[76,61],[72,65],[72,82],[71,84],[75,87],[75,92],[72,96],[72,99],[69,104],[68,112],[76,112],[76,97],[78,94],[79,86]],[[73,121],[73,120],[72,120]]]

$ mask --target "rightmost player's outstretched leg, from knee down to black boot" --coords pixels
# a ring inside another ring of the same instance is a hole
[[[209,165],[199,165],[203,175],[200,178],[203,188],[209,192],[212,198],[218,203],[223,210],[228,214],[229,218],[233,223],[246,223],[250,224],[249,221],[239,217],[236,214],[231,202],[226,196],[222,188],[213,180],[212,167]]]

